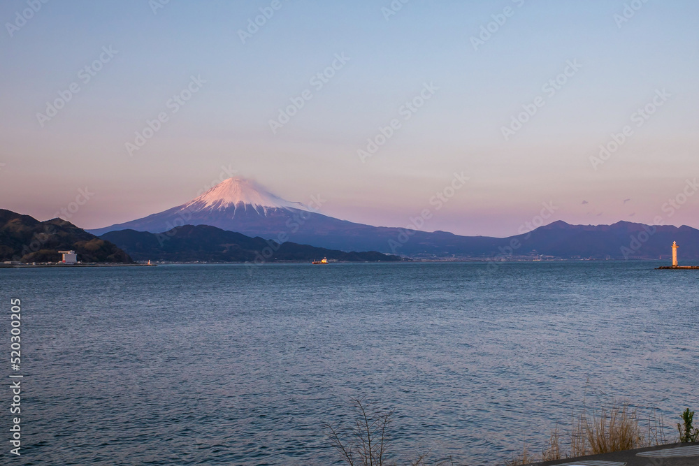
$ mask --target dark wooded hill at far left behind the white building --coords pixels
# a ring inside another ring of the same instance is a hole
[[[69,221],[38,221],[0,209],[0,261],[58,262],[61,250],[75,250],[82,262],[133,262],[122,249]]]

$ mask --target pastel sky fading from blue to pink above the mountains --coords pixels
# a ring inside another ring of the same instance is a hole
[[[553,203],[699,227],[696,1],[43,1],[0,4],[2,208],[87,188],[69,219],[98,228],[232,174],[382,226],[505,236]]]

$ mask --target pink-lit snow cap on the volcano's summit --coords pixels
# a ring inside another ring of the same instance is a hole
[[[308,210],[305,205],[284,201],[284,199],[261,187],[257,182],[243,177],[224,180],[182,207],[196,210],[219,210],[238,207],[240,204],[252,205],[255,210],[258,210],[259,207],[263,210],[268,208]]]

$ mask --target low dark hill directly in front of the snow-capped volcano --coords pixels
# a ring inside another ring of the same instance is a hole
[[[343,252],[294,242],[277,242],[215,226],[185,225],[165,233],[144,231],[111,231],[101,236],[127,251],[137,261],[172,262],[279,262],[306,261],[327,258],[348,262],[401,261],[398,256],[380,252]]]

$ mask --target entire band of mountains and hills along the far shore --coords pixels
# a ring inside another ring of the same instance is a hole
[[[84,262],[398,260],[390,256],[394,254],[423,259],[669,261],[673,241],[680,247],[680,263],[699,259],[699,230],[689,226],[555,221],[509,238],[405,231],[327,217],[243,178],[226,180],[165,212],[91,233],[62,219],[38,221],[0,210],[0,261],[58,261],[61,249],[75,249]]]

